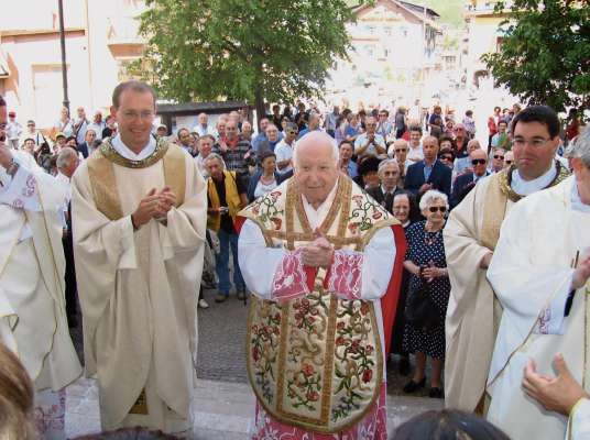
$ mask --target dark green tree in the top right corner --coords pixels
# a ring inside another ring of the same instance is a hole
[[[500,51],[482,56],[496,85],[528,105],[590,108],[590,0],[513,0],[501,29]]]

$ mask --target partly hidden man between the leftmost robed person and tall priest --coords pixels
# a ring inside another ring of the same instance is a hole
[[[88,135],[88,130],[86,134]],[[62,242],[64,245],[64,255],[66,258],[66,274],[65,274],[65,284],[66,284],[66,315],[67,322],[69,327],[78,326],[77,318],[77,297],[78,288],[76,285],[76,266],[74,263],[74,240],[72,238],[72,176],[76,173],[80,160],[78,157],[78,152],[69,146],[62,148],[57,155],[56,166],[58,174],[56,176],[59,179],[64,187],[66,188],[66,207],[64,209],[64,217],[66,220],[66,227],[64,228],[64,235]]]

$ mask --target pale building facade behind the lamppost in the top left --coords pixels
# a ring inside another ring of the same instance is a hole
[[[125,66],[141,56],[142,0],[64,1],[70,112],[106,111]],[[63,107],[57,1],[19,0],[0,14],[0,92],[21,122],[51,128]]]

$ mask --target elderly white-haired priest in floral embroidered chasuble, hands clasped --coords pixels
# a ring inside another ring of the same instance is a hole
[[[332,142],[321,132],[302,138],[294,177],[238,218],[240,267],[254,294],[254,439],[386,438],[384,359],[405,239],[338,172]]]

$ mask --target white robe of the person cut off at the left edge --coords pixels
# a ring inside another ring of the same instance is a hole
[[[81,374],[65,312],[65,193],[31,155],[13,155],[14,178],[0,173],[0,341],[33,380],[41,436],[63,439],[64,388]]]

